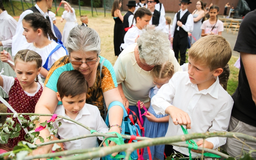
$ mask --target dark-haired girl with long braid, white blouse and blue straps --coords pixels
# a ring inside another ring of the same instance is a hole
[[[20,50],[33,50],[42,57],[43,67],[39,76],[44,82],[53,63],[60,57],[67,55],[68,52],[62,42],[54,36],[49,22],[41,14],[34,12],[26,15],[22,20],[22,25],[24,28],[23,36],[26,37],[28,43],[24,44]],[[49,40],[48,35],[54,41]],[[9,53],[7,55],[1,54],[2,62],[7,62],[8,57],[10,57]]]

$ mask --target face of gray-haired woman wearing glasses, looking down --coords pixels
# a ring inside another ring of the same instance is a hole
[[[95,69],[96,64],[98,64],[98,63],[96,63],[96,60],[97,60],[97,62],[99,61],[97,58],[96,52],[85,52],[85,53],[81,52],[81,51],[71,52],[70,59],[71,59],[71,61],[80,61],[80,63],[83,62],[80,65],[74,65],[74,62],[71,62],[71,64],[75,70],[80,71],[85,76],[89,75]],[[86,61],[94,61],[95,64],[88,65],[89,64],[88,62],[84,63]],[[78,62],[75,62],[75,63],[78,63]]]

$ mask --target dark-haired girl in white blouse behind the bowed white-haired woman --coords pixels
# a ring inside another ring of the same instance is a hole
[[[152,13],[148,9],[144,7],[140,7],[134,14],[133,21],[135,20],[136,25],[132,28],[130,28],[125,36],[124,36],[124,43],[121,44],[121,48],[125,49],[129,45],[136,43],[135,40],[137,40],[140,33],[142,33],[142,29],[149,24],[149,21],[151,20]],[[132,21],[132,24],[133,24]]]

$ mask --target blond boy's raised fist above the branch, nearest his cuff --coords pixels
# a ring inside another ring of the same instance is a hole
[[[170,114],[172,122],[175,125],[184,125],[187,129],[191,129],[191,121],[188,114],[175,106],[169,106],[166,108],[165,113]],[[177,122],[178,121],[178,122]]]

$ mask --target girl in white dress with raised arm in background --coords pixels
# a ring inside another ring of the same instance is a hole
[[[62,14],[62,17],[60,18],[60,22],[63,22],[63,20],[66,20],[66,24],[63,29],[62,33],[62,42],[63,45],[66,47],[66,41],[68,39],[69,31],[72,30],[75,26],[78,24],[76,23],[76,15],[75,10],[72,8],[69,4],[69,2],[66,2],[64,0],[61,1],[62,4],[64,4],[65,11]]]

